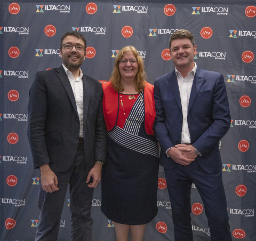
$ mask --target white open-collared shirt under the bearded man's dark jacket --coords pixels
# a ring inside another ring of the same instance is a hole
[[[80,120],[80,131],[79,131],[79,137],[83,137],[83,125],[84,125],[84,89],[83,89],[83,73],[82,70],[80,70],[80,75],[75,79],[73,74],[63,65],[63,68],[65,69],[65,72],[68,76],[69,82],[71,84],[74,97],[76,100],[76,108]]]

